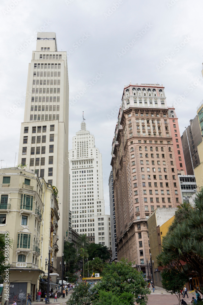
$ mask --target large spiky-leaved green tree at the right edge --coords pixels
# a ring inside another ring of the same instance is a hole
[[[162,252],[158,255],[159,266],[174,266],[190,278],[199,278],[199,292],[203,292],[203,188],[196,194],[194,207],[182,203],[175,213],[174,221],[162,239]]]

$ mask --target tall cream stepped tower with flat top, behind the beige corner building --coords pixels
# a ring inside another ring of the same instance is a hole
[[[59,261],[64,239],[68,237],[71,241],[68,100],[66,52],[57,50],[55,33],[38,33],[36,51],[33,51],[28,67],[18,164],[26,164],[59,191]]]

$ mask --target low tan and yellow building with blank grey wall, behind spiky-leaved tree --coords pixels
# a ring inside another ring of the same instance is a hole
[[[157,208],[148,218],[148,231],[150,239],[150,253],[154,260],[153,274],[154,285],[162,287],[161,284],[161,267],[157,264],[157,255],[161,253],[161,241],[166,235],[170,224],[172,223],[177,208]]]

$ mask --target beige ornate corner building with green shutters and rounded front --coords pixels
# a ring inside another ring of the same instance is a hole
[[[36,299],[39,288],[46,289],[45,258],[51,246],[52,283],[56,285],[58,204],[51,185],[29,169],[0,170],[0,230],[9,232],[9,302]],[[5,300],[5,284],[2,302]]]

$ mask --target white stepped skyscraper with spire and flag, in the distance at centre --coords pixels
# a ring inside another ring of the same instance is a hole
[[[68,156],[72,228],[79,234],[87,234],[90,243],[110,248],[111,225],[110,215],[105,215],[104,209],[102,155],[84,120],[81,130],[73,137]]]

